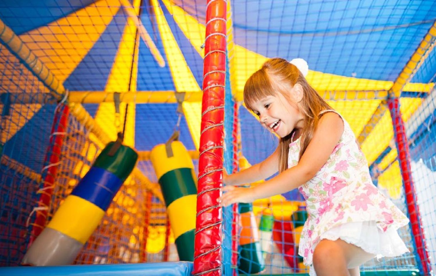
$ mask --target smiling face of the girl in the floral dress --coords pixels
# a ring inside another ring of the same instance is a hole
[[[259,122],[281,138],[289,135],[295,128],[303,129],[304,117],[298,104],[291,104],[280,92],[254,102],[251,107],[259,116]]]

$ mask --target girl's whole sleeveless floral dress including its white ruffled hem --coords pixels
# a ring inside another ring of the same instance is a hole
[[[343,121],[344,132],[326,164],[298,188],[308,213],[299,255],[305,265],[311,266],[311,275],[313,251],[321,239],[343,239],[378,256],[398,256],[409,251],[396,232],[409,219],[372,183],[368,162],[351,127]],[[300,138],[290,143],[288,167],[298,163],[299,153]],[[374,233],[381,235],[379,239]]]

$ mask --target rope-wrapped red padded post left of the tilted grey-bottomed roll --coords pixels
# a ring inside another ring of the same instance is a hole
[[[42,169],[42,188],[38,190],[41,196],[38,200],[38,205],[35,207],[36,218],[32,225],[31,236],[28,243],[28,248],[34,240],[44,230],[47,223],[48,208],[51,203],[54,184],[58,174],[58,165],[61,160],[61,150],[64,137],[67,131],[69,108],[67,105],[61,104],[56,108],[51,126],[50,142],[44,160],[44,168]]]

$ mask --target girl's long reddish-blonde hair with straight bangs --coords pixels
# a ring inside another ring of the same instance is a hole
[[[313,138],[313,133],[320,120],[320,112],[332,108],[309,85],[295,65],[283,58],[271,58],[266,61],[262,68],[254,72],[245,83],[244,103],[247,108],[252,110],[253,103],[266,96],[276,96],[278,91],[294,105],[295,103],[290,99],[289,91],[286,90],[291,89],[297,83],[303,87],[303,99],[300,102],[302,109],[300,111],[304,116],[304,127],[301,134],[301,158]],[[288,168],[289,144],[293,132],[279,140],[279,172]]]

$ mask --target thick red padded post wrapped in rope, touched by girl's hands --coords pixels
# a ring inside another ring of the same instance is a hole
[[[194,275],[221,275],[226,1],[208,0],[203,63]]]

